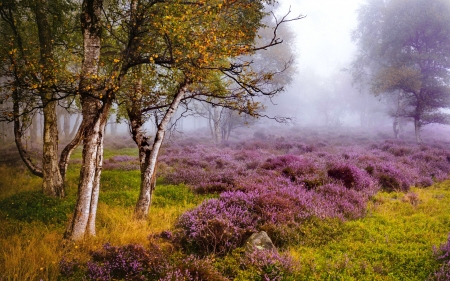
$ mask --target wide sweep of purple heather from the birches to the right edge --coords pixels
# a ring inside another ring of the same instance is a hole
[[[186,247],[225,254],[253,231],[266,230],[282,243],[295,232],[288,229],[312,217],[364,216],[380,188],[407,192],[446,179],[450,151],[443,147],[332,132],[256,133],[226,146],[181,142],[160,160],[172,167],[165,170],[168,182],[220,194],[182,215],[178,227]]]

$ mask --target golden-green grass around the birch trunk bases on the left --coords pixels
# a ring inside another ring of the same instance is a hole
[[[40,193],[41,179],[23,168],[0,166],[0,280],[58,280],[63,256],[87,261],[89,252],[106,242],[140,243],[170,230],[178,216],[206,196],[194,195],[184,185],[158,180],[150,218],[132,219],[139,191],[138,171],[103,171],[97,213],[97,236],[79,243],[62,240],[73,211],[79,165],[71,164],[66,178],[67,197],[52,199]],[[19,176],[20,175],[20,176]]]

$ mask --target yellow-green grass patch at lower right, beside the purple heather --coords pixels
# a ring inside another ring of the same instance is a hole
[[[311,233],[290,248],[300,262],[300,280],[425,280],[437,267],[433,245],[450,232],[450,182],[403,193],[380,193],[360,220],[335,224],[321,240]],[[320,233],[329,225],[306,228]]]

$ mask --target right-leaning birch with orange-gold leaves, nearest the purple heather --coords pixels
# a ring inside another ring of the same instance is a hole
[[[198,5],[193,14],[191,7],[185,4],[165,7],[164,10],[169,11],[170,16],[163,14],[164,18],[173,18],[175,22],[166,21],[167,25],[172,26],[172,32],[159,34],[163,43],[157,47],[170,49],[174,62],[132,71],[131,83],[122,91],[123,104],[126,106],[133,139],[139,148],[141,163],[141,192],[135,209],[138,219],[148,216],[155,188],[159,148],[167,125],[180,104],[188,107],[190,101],[201,101],[216,109],[227,108],[257,115],[260,104],[254,99],[270,97],[282,90],[281,87],[270,85],[276,73],[281,71],[255,71],[251,61],[245,57],[280,44],[276,28],[289,20],[283,18],[277,22],[272,40],[266,45],[257,46],[254,39],[262,27],[263,1],[216,1],[209,4],[211,6]],[[147,9],[141,6],[138,10]],[[181,19],[185,20],[186,15],[192,18],[183,24]],[[236,22],[240,24],[236,25]],[[174,30],[179,30],[179,33]],[[158,38],[158,33],[153,30],[152,36]],[[141,40],[145,38],[141,37]],[[155,120],[157,132],[153,141],[142,128],[149,116],[160,116]],[[215,124],[217,128],[218,123]],[[216,131],[219,140],[221,132]]]

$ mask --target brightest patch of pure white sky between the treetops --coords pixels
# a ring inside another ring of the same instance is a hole
[[[297,38],[297,65],[325,75],[345,67],[351,61],[355,46],[350,32],[356,28],[356,10],[363,0],[281,0],[280,13],[306,15],[290,23]]]

